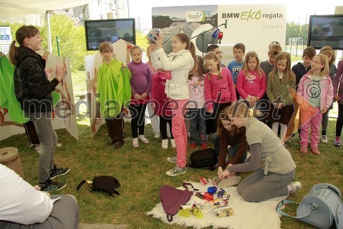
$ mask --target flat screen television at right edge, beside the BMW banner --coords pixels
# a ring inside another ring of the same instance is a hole
[[[307,45],[316,50],[325,45],[343,50],[343,14],[311,15]]]

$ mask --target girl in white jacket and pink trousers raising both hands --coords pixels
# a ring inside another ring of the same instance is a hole
[[[174,177],[186,173],[187,157],[187,131],[185,124],[185,111],[189,100],[189,89],[187,78],[189,72],[194,67],[196,60],[196,50],[187,34],[176,34],[173,37],[171,47],[173,52],[170,56],[165,54],[162,47],[163,34],[156,36],[155,43],[150,43],[152,47],[152,66],[155,69],[165,69],[171,71],[171,79],[166,80],[165,93],[169,98],[172,113],[171,132],[176,142],[176,157],[168,157],[169,162],[176,162],[176,166],[165,174]]]

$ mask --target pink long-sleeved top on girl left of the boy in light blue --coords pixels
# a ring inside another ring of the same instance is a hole
[[[226,67],[221,68],[220,74],[222,78],[209,72],[205,76],[205,99],[206,101],[213,101],[215,103],[234,102],[237,100],[235,84],[230,71]],[[211,75],[211,80],[209,76]],[[206,107],[207,111],[213,110],[212,102]]]

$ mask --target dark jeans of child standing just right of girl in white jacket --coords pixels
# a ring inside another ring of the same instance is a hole
[[[187,116],[191,122],[189,142],[197,143],[199,140],[200,144],[207,143],[205,109],[188,109]]]

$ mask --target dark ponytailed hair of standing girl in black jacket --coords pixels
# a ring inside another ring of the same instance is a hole
[[[16,30],[16,40],[12,41],[10,45],[10,54],[8,55],[10,62],[13,65],[16,65],[16,63],[18,63],[19,58],[19,47],[16,47],[16,42],[18,42],[19,45],[22,46],[24,45],[25,39],[36,36],[36,34],[39,34],[39,30],[33,25],[23,25],[21,26],[21,28]]]

